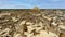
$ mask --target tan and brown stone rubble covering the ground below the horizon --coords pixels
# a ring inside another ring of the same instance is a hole
[[[63,12],[16,12],[0,14],[0,37],[61,37],[65,35]],[[65,37],[65,36],[64,36]]]

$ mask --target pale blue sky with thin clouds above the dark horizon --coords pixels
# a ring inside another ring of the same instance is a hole
[[[65,9],[65,0],[0,0],[0,9]]]

